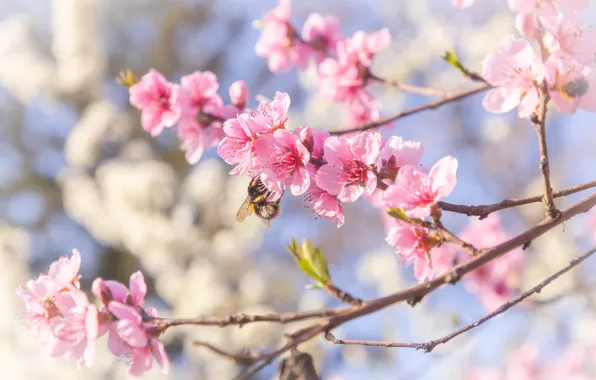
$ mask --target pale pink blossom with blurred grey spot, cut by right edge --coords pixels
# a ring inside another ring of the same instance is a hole
[[[596,111],[596,66],[583,66],[551,56],[546,67],[550,96],[559,112],[571,114],[578,108]]]

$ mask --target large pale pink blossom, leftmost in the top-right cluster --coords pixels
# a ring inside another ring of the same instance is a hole
[[[482,76],[497,87],[484,97],[487,111],[503,113],[519,106],[519,117],[525,118],[538,106],[545,68],[526,40],[505,37],[501,51],[482,62]]]

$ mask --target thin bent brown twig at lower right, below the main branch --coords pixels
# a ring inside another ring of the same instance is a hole
[[[456,331],[452,332],[451,334],[445,335],[444,337],[439,338],[439,339],[431,340],[431,341],[428,341],[425,343],[397,343],[397,342],[381,342],[381,341],[371,341],[371,340],[341,340],[341,339],[336,339],[329,332],[327,332],[325,334],[325,338],[334,344],[377,346],[377,347],[406,347],[406,348],[415,348],[417,350],[424,350],[425,352],[431,352],[438,345],[445,344],[445,343],[449,342],[453,338],[455,338],[459,335],[462,335],[463,333],[466,333],[466,332],[480,326],[484,322],[496,317],[497,315],[503,314],[504,312],[511,309],[513,306],[519,304],[520,302],[522,302],[526,298],[530,297],[531,295],[533,295],[535,293],[540,293],[544,287],[548,286],[551,282],[553,282],[554,280],[556,280],[563,274],[569,272],[571,269],[573,269],[574,267],[579,265],[582,261],[584,261],[588,257],[592,256],[594,253],[596,253],[596,248],[592,248],[591,250],[584,253],[580,257],[577,257],[577,258],[571,260],[569,262],[569,264],[567,266],[565,266],[563,269],[561,269],[558,272],[556,272],[555,274],[551,275],[550,277],[548,277],[547,279],[545,279],[544,281],[542,281],[540,284],[536,285],[532,289],[524,292],[519,297],[516,297],[516,298],[512,299],[511,301],[508,301],[508,302],[502,304],[496,310],[485,315],[484,317],[480,318],[476,322],[471,323],[466,326],[463,326],[462,328],[457,329]]]

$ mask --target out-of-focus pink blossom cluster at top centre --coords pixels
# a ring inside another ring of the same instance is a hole
[[[372,59],[391,42],[389,31],[359,31],[347,38],[339,32],[336,17],[312,13],[299,36],[290,13],[289,0],[280,0],[267,12],[255,47],[257,55],[268,59],[272,72],[305,68],[313,58],[321,95],[344,105],[348,125],[378,120],[379,109],[366,86],[375,79],[370,73]]]

